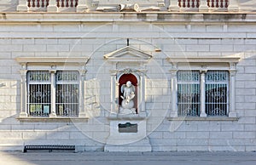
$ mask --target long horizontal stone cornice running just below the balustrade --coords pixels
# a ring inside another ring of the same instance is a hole
[[[90,12],[49,13],[13,12],[0,13],[1,23],[90,23],[90,22],[155,22],[155,23],[255,23],[256,12]]]

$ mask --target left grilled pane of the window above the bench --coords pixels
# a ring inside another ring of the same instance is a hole
[[[48,117],[50,113],[49,71],[28,71],[27,109],[30,116]]]

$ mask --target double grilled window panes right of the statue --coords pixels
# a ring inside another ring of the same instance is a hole
[[[209,117],[227,116],[229,77],[229,71],[207,71],[201,81],[200,71],[177,71],[177,115],[199,117],[205,111]],[[203,85],[205,91],[201,91]],[[205,110],[201,110],[201,104],[205,104]]]

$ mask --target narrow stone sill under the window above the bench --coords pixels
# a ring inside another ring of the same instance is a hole
[[[16,117],[20,122],[87,122],[89,117]]]

